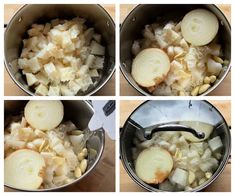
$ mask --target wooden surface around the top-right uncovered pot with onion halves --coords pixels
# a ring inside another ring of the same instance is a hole
[[[122,4],[120,6],[120,22],[125,19],[129,12],[135,7],[133,4]],[[228,4],[217,4],[217,6],[225,14],[229,22],[231,22],[231,6]],[[120,74],[120,95],[122,96],[141,96],[141,94],[135,90]],[[231,72],[227,75],[224,81],[213,92],[208,94],[209,96],[230,96],[231,95]]]

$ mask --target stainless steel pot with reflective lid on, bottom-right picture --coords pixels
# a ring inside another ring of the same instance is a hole
[[[207,101],[146,101],[137,107],[126,120],[120,135],[120,153],[124,168],[129,176],[139,186],[148,191],[162,191],[157,186],[151,186],[143,182],[135,173],[135,166],[132,158],[133,138],[137,128],[133,121],[142,127],[149,127],[155,124],[169,123],[175,121],[200,121],[220,126],[211,134],[211,138],[219,135],[223,142],[223,157],[219,167],[213,176],[202,185],[191,191],[201,191],[209,186],[224,170],[231,151],[231,136],[228,125],[221,113]]]

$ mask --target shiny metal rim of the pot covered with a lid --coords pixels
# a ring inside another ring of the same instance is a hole
[[[144,101],[143,103],[141,103],[139,106],[137,106],[133,112],[130,113],[130,115],[128,116],[128,118],[126,119],[124,125],[123,125],[123,128],[124,130],[126,130],[126,126],[127,126],[127,121],[130,119],[130,117],[140,108],[142,107],[142,105],[146,104],[147,102],[149,101],[158,101],[158,100],[147,100],[147,101]],[[162,101],[162,100],[159,100],[159,101]],[[164,100],[164,101],[171,101],[171,100]],[[176,100],[176,101],[185,101],[185,100]],[[222,120],[224,121],[225,123],[225,126],[228,130],[228,138],[229,138],[229,141],[228,142],[228,148],[227,148],[227,156],[225,158],[225,160],[223,162],[220,162],[220,165],[218,166],[218,168],[221,166],[222,164],[222,167],[220,169],[220,171],[218,171],[218,173],[216,174],[217,170],[213,173],[212,177],[210,180],[207,181],[206,184],[202,184],[192,190],[189,190],[189,191],[183,191],[183,192],[199,192],[203,189],[205,189],[206,187],[208,187],[211,183],[213,183],[219,176],[220,174],[224,171],[226,165],[228,164],[228,160],[230,158],[230,154],[231,154],[231,133],[229,131],[229,127],[228,127],[228,124],[224,118],[224,116],[221,114],[221,112],[214,106],[212,105],[209,101],[207,100],[193,100],[193,101],[202,101],[202,102],[205,102],[207,103],[208,105],[210,105],[216,112],[218,112],[218,114],[221,116]],[[160,189],[157,189],[157,188],[153,188],[151,185],[145,183],[145,182],[142,182],[138,176],[136,175],[135,171],[133,171],[130,167],[129,167],[129,164],[127,162],[127,159],[126,157],[124,156],[124,151],[125,149],[123,148],[123,145],[122,145],[122,140],[123,140],[123,131],[121,131],[120,133],[120,157],[121,157],[121,161],[122,161],[122,165],[124,166],[126,172],[128,173],[128,175],[131,177],[131,179],[136,183],[138,184],[141,188],[147,190],[147,191],[150,191],[150,192],[169,192],[169,191],[163,191],[163,190],[160,190]],[[126,154],[125,154],[126,155]],[[134,174],[134,175],[133,175]],[[216,174],[216,175],[215,175]],[[153,190],[153,189],[156,189],[156,190]]]

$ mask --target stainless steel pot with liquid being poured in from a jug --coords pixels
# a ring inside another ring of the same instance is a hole
[[[8,115],[19,115],[20,112],[24,111],[24,107],[28,101],[16,101],[16,100],[9,100],[4,102],[4,119],[7,119]],[[64,105],[64,120],[71,120],[77,127],[80,129],[85,129],[88,126],[90,118],[94,114],[94,109],[92,105],[87,101],[62,101]],[[4,124],[7,125],[7,122]],[[89,138],[87,141],[87,149],[88,149],[88,167],[86,172],[77,180],[73,181],[72,183],[50,188],[50,189],[38,189],[32,191],[55,191],[62,189],[64,187],[70,186],[75,183],[79,183],[83,178],[89,175],[92,170],[96,167],[97,163],[101,159],[105,144],[105,133],[104,130],[97,131],[93,136]],[[91,156],[89,153],[89,149],[94,149],[97,151],[97,155],[94,157]],[[5,186],[17,189],[15,187],[11,187],[7,184]],[[20,190],[20,191],[30,191],[30,190]]]

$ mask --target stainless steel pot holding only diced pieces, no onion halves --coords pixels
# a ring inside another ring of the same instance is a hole
[[[13,81],[29,95],[34,91],[27,87],[26,79],[20,72],[16,77],[11,63],[19,58],[22,40],[33,23],[45,23],[54,18],[72,19],[80,16],[87,19],[87,25],[92,26],[102,34],[106,46],[105,66],[99,83],[78,95],[92,95],[102,88],[115,71],[115,24],[110,15],[100,5],[96,4],[30,4],[19,9],[9,21],[5,30],[4,54],[5,65]]]

